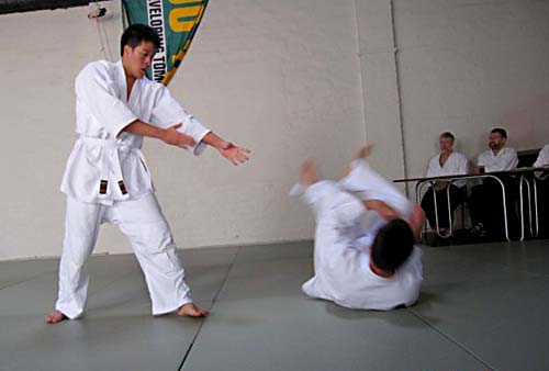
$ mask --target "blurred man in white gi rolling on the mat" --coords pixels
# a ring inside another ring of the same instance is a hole
[[[414,241],[425,216],[370,169],[367,151],[337,183],[320,180],[312,162],[302,167],[291,194],[302,195],[316,216],[315,272],[302,289],[341,306],[389,311],[419,295],[422,251]]]

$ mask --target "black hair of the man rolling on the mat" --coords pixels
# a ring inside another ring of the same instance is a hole
[[[394,218],[379,229],[373,240],[371,259],[376,267],[394,272],[412,254],[414,234],[410,225]]]

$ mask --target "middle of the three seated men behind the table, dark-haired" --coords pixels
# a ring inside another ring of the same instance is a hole
[[[490,132],[490,149],[479,155],[474,173],[514,170],[518,165],[515,149],[505,147],[507,132],[496,127]],[[507,225],[509,233],[518,227],[515,211],[517,182],[508,176],[497,176],[505,186]],[[469,198],[469,211],[473,227],[471,234],[480,237],[501,238],[504,236],[503,195],[501,184],[495,179],[484,179],[482,184],[473,187]]]

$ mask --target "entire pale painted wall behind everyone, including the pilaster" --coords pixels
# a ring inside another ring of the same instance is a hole
[[[117,58],[120,2],[101,21]],[[91,8],[0,16],[3,45],[0,259],[60,252],[58,184],[72,146],[74,77],[101,50]],[[311,238],[287,196],[299,164],[341,173],[374,142],[391,178],[421,176],[451,130],[473,158],[503,123],[518,149],[549,142],[549,2],[211,1],[170,89],[204,124],[253,150],[234,168],[146,140],[180,247]],[[130,251],[112,227],[96,252]]]

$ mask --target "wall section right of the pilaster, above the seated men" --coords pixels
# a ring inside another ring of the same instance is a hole
[[[451,131],[472,161],[504,126],[517,150],[549,143],[549,2],[394,0],[407,175]]]

